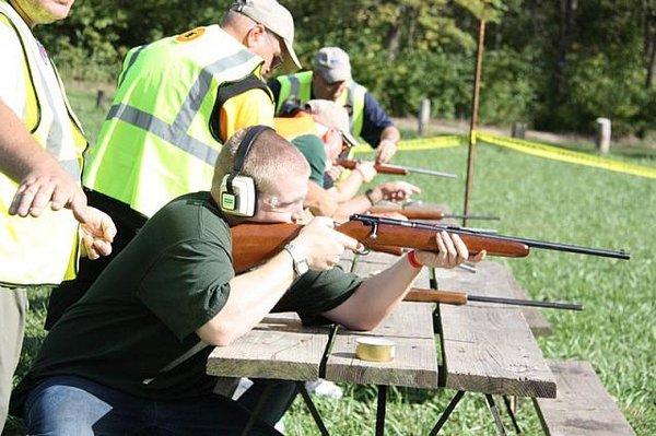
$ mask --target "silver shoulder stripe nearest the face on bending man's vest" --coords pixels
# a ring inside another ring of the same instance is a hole
[[[214,74],[219,74],[230,68],[237,67],[251,58],[253,54],[250,51],[239,50],[234,55],[219,59],[218,61],[204,67],[189,90],[187,98],[185,98],[185,102],[180,107],[180,111],[178,111],[177,116],[175,117],[175,121],[173,121],[174,128],[176,130],[179,129],[181,131],[187,131],[189,127],[191,127],[191,122],[194,121],[194,118],[196,118],[196,115],[200,109],[200,105],[210,92],[212,76]]]

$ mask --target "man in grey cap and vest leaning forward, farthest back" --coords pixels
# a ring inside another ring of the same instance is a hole
[[[386,163],[396,153],[400,132],[366,87],[351,76],[349,55],[338,47],[324,47],[313,60],[313,71],[280,75],[269,81],[276,113],[311,99],[329,99],[348,108],[351,133],[376,149],[376,162]]]

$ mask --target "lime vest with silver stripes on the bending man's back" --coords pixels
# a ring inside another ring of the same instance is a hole
[[[219,89],[263,60],[219,25],[130,50],[84,186],[152,216],[184,193],[211,187],[222,143],[212,119]]]

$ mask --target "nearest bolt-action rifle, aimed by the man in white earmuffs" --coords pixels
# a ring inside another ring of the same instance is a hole
[[[298,234],[301,228],[301,225],[291,223],[245,223],[232,227],[232,255],[235,271],[237,273],[244,272],[270,259],[281,251],[284,245]],[[467,227],[424,224],[372,215],[351,215],[349,221],[339,224],[336,229],[358,239],[364,247],[374,251],[389,252],[393,247],[437,251],[435,235],[438,232],[446,231],[459,235],[472,256],[485,250],[490,256],[526,257],[530,251],[530,247],[536,247],[618,259],[630,258],[630,255],[623,250],[612,251],[546,243],[477,232]]]

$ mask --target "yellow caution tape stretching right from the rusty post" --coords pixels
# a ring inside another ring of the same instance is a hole
[[[609,169],[612,172],[631,174],[634,176],[656,178],[656,168],[644,165],[628,164],[621,161],[595,156],[588,153],[574,152],[553,145],[546,145],[516,138],[497,137],[495,134],[480,132],[477,132],[477,138],[489,144],[505,146],[518,152],[531,154],[534,156],[567,162],[571,164],[593,166],[596,168]]]

